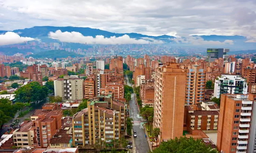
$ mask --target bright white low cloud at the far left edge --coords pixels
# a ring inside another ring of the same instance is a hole
[[[5,34],[0,35],[0,46],[1,45],[12,45],[12,44],[20,44],[25,41],[35,40],[30,37],[20,37],[18,34],[14,32],[6,32]]]

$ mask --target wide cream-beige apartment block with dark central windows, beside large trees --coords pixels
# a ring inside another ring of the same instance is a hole
[[[54,94],[62,97],[62,100],[83,100],[84,79],[78,76],[64,76],[63,79],[54,80]]]

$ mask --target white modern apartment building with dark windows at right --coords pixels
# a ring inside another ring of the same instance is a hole
[[[221,94],[247,94],[247,82],[239,75],[221,75],[215,80],[213,97]]]

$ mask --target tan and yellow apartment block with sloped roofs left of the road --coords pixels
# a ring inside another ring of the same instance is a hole
[[[109,109],[108,101],[88,101],[88,108],[73,117],[75,145],[95,145],[100,140],[111,143],[119,139],[121,112]]]

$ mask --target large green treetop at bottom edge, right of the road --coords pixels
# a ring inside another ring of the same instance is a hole
[[[180,137],[162,142],[153,153],[218,153],[216,149],[205,145],[201,139]]]

